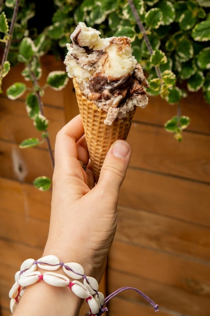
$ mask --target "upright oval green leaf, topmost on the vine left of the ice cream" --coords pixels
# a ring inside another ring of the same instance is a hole
[[[36,47],[30,37],[24,37],[19,48],[18,60],[22,63],[28,63],[36,52]]]

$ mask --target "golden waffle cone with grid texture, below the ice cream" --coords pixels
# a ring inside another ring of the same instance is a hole
[[[107,113],[98,109],[94,102],[88,100],[81,92],[76,79],[73,79],[77,102],[85,130],[86,142],[91,159],[93,174],[98,182],[101,167],[111,144],[117,139],[126,139],[133,114],[127,113],[122,119],[116,119],[111,126],[104,124]]]

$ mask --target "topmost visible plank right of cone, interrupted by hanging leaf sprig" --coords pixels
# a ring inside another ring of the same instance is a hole
[[[181,114],[191,119],[188,131],[210,134],[210,107],[201,91],[190,92],[187,98],[181,100]],[[176,104],[170,105],[159,96],[150,96],[148,106],[145,109],[137,108],[133,120],[164,126],[166,121],[176,115]]]

